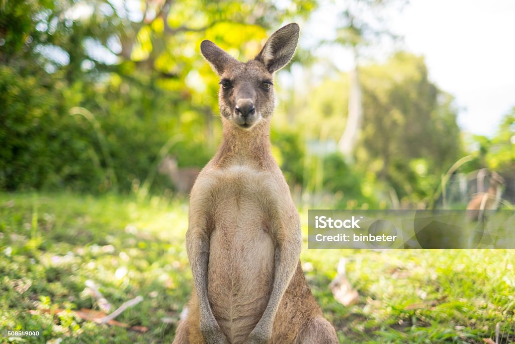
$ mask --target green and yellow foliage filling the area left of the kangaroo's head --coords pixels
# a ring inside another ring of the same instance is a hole
[[[2,5],[1,190],[127,192],[156,168],[171,137],[179,166],[204,165],[220,125],[217,79],[198,52],[201,40],[251,58],[269,27],[302,19],[316,3],[294,1],[286,10],[271,1],[142,6],[143,18],[103,0]],[[93,120],[71,116],[74,107]],[[169,186],[160,182],[153,187]]]

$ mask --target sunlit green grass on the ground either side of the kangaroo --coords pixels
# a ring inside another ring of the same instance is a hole
[[[306,211],[301,218],[305,223]],[[177,320],[190,292],[186,227],[184,201],[0,194],[0,329],[43,329],[43,338],[20,342],[171,342],[176,323],[161,319]],[[500,323],[500,342],[508,343],[515,341],[514,251],[304,247],[301,259],[341,342],[483,343]],[[340,257],[359,292],[349,307],[328,288]],[[87,280],[114,307],[141,295],[144,301],[116,320],[149,331],[74,317],[70,310],[98,309],[83,292]],[[65,312],[43,312],[57,308]]]

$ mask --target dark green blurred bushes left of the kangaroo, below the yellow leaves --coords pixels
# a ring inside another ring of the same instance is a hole
[[[173,96],[126,86],[124,97],[120,87],[67,86],[43,70],[24,75],[0,67],[0,189],[128,192],[134,179],[143,182],[170,136],[198,128],[180,126]],[[80,105],[91,110],[97,127],[70,115]],[[210,157],[195,140],[183,139],[172,151],[180,165],[202,166]],[[162,183],[155,188],[169,186],[157,180]]]

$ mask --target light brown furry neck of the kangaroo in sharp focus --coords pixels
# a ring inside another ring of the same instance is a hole
[[[265,168],[274,163],[270,149],[270,123],[262,121],[250,130],[236,127],[222,118],[224,133],[213,162],[219,167],[254,165]]]

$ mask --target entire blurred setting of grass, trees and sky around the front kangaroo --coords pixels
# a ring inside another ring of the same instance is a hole
[[[221,138],[200,42],[245,61],[297,22],[272,153],[340,341],[515,342],[514,250],[306,247],[310,208],[513,209],[513,18],[511,0],[0,0],[0,329],[173,339],[187,193]]]

